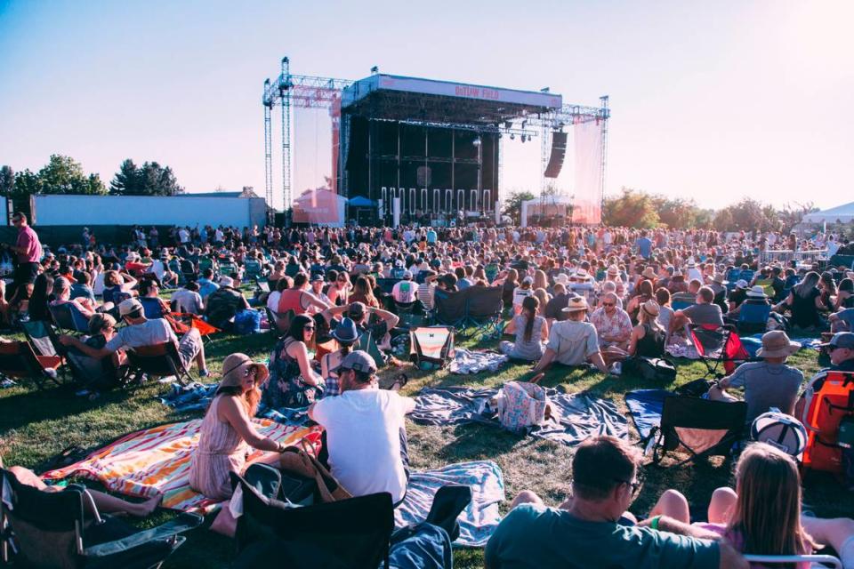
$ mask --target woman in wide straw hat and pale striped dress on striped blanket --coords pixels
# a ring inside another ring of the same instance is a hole
[[[248,446],[281,453],[284,446],[258,434],[252,417],[261,401],[260,387],[270,377],[266,365],[246,354],[222,362],[222,381],[202,421],[198,445],[189,461],[189,485],[214,500],[231,495],[230,473],[246,467]]]

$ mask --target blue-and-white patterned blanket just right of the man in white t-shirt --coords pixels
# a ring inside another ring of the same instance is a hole
[[[483,547],[501,521],[498,505],[504,501],[504,477],[493,461],[474,461],[449,464],[426,472],[413,472],[407,485],[407,497],[394,510],[398,527],[420,524],[427,518],[433,496],[440,487],[449,484],[471,486],[471,504],[457,521],[460,537],[456,545]]]

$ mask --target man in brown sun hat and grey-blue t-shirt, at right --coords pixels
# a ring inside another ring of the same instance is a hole
[[[709,390],[709,399],[737,401],[737,397],[729,395],[727,389],[744,388],[748,423],[771,407],[793,414],[803,373],[786,365],[786,358],[798,349],[801,349],[801,344],[789,340],[782,330],[764,333],[762,347],[756,352],[762,361],[739,365],[735,372]]]

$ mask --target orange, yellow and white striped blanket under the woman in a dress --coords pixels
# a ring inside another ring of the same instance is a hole
[[[318,428],[281,425],[270,419],[254,419],[262,437],[285,445],[296,445],[303,438],[317,443]],[[112,492],[149,497],[164,493],[163,507],[207,513],[219,504],[189,487],[189,457],[198,442],[202,421],[161,425],[125,435],[91,453],[83,461],[44,473],[45,480],[72,476],[85,477],[105,485]],[[254,451],[247,463],[259,461],[268,453]]]

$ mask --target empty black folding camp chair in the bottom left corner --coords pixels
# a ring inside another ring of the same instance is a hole
[[[157,568],[185,541],[179,533],[203,521],[197,514],[183,513],[139,530],[117,517],[102,516],[82,485],[45,492],[0,470],[0,487],[3,560],[15,566]]]

